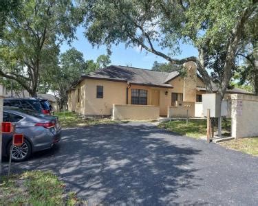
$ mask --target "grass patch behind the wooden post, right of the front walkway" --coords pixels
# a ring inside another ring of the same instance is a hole
[[[171,122],[162,122],[159,127],[194,138],[206,137],[207,133],[206,119],[189,119],[188,125],[186,125],[186,120],[173,120]],[[217,130],[216,126],[214,130]],[[230,135],[230,121],[228,119],[222,121],[222,135]]]

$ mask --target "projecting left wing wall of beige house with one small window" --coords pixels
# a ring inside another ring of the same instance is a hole
[[[97,86],[103,86],[103,98],[96,98]],[[111,115],[113,104],[126,104],[126,92],[125,82],[85,79],[74,91],[69,91],[69,111],[82,115]]]

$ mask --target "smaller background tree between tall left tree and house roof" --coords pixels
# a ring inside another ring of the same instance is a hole
[[[45,69],[47,73],[43,75],[41,86],[47,91],[53,91],[58,98],[60,108],[63,108],[68,99],[67,91],[74,82],[78,82],[82,75],[106,67],[110,62],[109,56],[104,54],[98,56],[96,62],[85,61],[83,53],[72,47],[58,56],[55,67]]]

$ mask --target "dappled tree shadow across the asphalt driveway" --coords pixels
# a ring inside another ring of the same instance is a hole
[[[63,130],[59,145],[12,163],[12,171],[53,170],[89,204],[168,205],[199,186],[191,163],[200,152],[175,146],[171,133],[151,124],[88,126]]]

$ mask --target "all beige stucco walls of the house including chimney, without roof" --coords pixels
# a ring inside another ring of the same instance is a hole
[[[114,104],[131,104],[131,89],[144,89],[147,90],[147,105],[159,106],[160,115],[166,116],[168,107],[171,106],[172,93],[187,93],[183,95],[184,101],[195,102],[196,87],[204,87],[204,82],[196,75],[196,66],[193,67],[192,64],[190,66],[189,76],[186,78],[177,76],[168,82],[173,88],[86,78],[69,91],[69,111],[82,115],[111,115]],[[103,86],[103,98],[96,98],[97,86]]]

